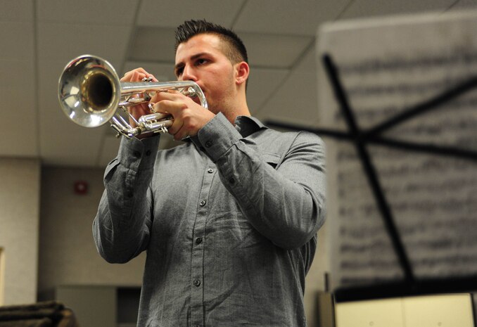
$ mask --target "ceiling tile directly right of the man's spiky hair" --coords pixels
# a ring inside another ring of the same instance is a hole
[[[290,68],[313,41],[313,37],[241,33],[250,65]]]

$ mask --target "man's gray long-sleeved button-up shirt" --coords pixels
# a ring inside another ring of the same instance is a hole
[[[93,232],[108,262],[147,251],[138,326],[306,326],[324,222],[324,145],[219,114],[192,141],[123,139]]]

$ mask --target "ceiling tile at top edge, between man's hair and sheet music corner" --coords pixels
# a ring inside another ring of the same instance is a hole
[[[349,0],[247,1],[234,24],[238,32],[314,36],[317,27],[335,19]]]

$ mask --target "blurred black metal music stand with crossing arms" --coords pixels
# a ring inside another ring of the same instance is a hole
[[[341,302],[437,293],[469,293],[477,290],[477,274],[475,276],[455,278],[416,278],[412,264],[409,262],[409,257],[407,255],[405,246],[402,243],[402,238],[400,237],[398,229],[396,228],[393,213],[390,210],[388,200],[386,195],[383,193],[383,188],[381,186],[378,174],[376,173],[376,169],[373,165],[373,162],[371,161],[371,156],[367,150],[367,145],[379,144],[381,146],[388,146],[390,148],[461,158],[464,160],[477,162],[477,151],[464,150],[460,148],[454,148],[452,146],[435,146],[433,144],[399,141],[381,135],[391,127],[395,127],[402,122],[411,120],[413,117],[421,115],[422,113],[434,110],[435,108],[438,108],[439,105],[447,103],[448,101],[457,98],[457,96],[461,96],[468,91],[476,89],[477,77],[468,79],[466,82],[462,82],[452,87],[452,89],[448,89],[442,94],[428,99],[428,101],[424,101],[412,106],[411,108],[407,108],[403,110],[402,113],[391,117],[381,124],[377,124],[376,126],[367,130],[362,130],[357,125],[355,115],[348,102],[348,96],[341,84],[338,69],[333,63],[331,56],[325,54],[322,59],[327,77],[331,82],[334,95],[338,101],[339,108],[343,114],[343,117],[345,118],[348,132],[321,128],[310,129],[276,121],[268,121],[267,125],[269,127],[312,132],[318,134],[319,136],[331,137],[341,141],[348,141],[355,146],[367,180],[371,186],[374,200],[376,201],[376,205],[379,208],[384,226],[386,227],[386,231],[393,245],[393,250],[398,257],[400,268],[402,269],[404,275],[404,278],[398,281],[337,288],[334,291],[334,297],[336,301]]]

